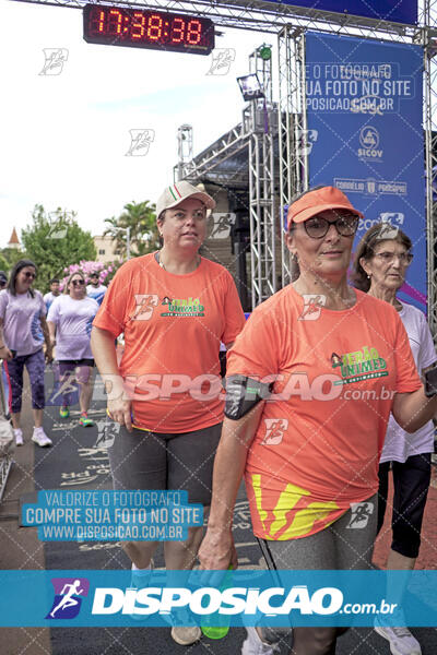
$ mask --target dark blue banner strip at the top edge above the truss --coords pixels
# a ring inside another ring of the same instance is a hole
[[[393,23],[417,23],[417,0],[282,0],[277,4],[308,7]]]

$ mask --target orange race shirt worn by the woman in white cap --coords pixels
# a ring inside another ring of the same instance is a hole
[[[133,397],[133,425],[188,432],[223,420],[220,344],[235,340],[245,315],[231,274],[201,259],[174,275],[154,254],[123,264],[93,325],[125,333],[120,374]]]

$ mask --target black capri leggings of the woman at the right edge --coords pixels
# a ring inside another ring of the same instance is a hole
[[[392,550],[416,558],[421,547],[422,521],[430,481],[430,453],[412,455],[406,462],[392,462],[393,513]],[[390,462],[379,465],[378,533],[387,508]]]

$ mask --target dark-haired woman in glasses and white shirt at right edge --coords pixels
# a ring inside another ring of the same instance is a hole
[[[433,337],[421,310],[401,302],[397,293],[405,281],[413,259],[411,239],[390,224],[374,225],[362,238],[355,254],[355,286],[370,296],[386,300],[398,310],[420,373],[437,361]],[[393,416],[387,427],[379,464],[378,532],[383,524],[390,466],[394,497],[392,544],[387,569],[412,570],[421,546],[421,529],[430,481],[430,455],[434,451],[434,425],[425,424],[413,434],[403,430]],[[405,590],[399,590],[399,599]],[[400,623],[402,626],[402,623]],[[375,630],[390,642],[392,653],[421,655],[421,645],[404,627],[376,623]]]

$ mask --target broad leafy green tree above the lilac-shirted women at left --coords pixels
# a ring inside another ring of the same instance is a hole
[[[37,288],[42,291],[48,290],[51,277],[62,277],[70,264],[96,258],[93,237],[78,225],[75,216],[75,212],[60,209],[47,215],[43,205],[35,205],[33,223],[22,233],[26,257],[38,267]]]

